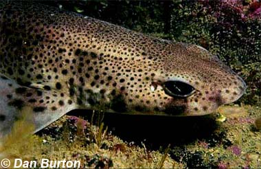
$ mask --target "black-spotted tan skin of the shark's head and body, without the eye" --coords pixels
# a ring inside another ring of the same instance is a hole
[[[71,109],[205,115],[245,91],[234,71],[197,45],[31,2],[2,1],[0,19],[0,74],[15,84],[8,95],[21,87],[34,91],[29,98],[17,92],[15,98],[1,97],[23,100],[21,107],[8,105],[13,112],[26,105],[38,114],[54,114],[47,122],[36,116],[38,129]],[[185,98],[169,95],[163,89],[168,81],[190,84],[195,92]],[[44,96],[36,96],[38,90]]]

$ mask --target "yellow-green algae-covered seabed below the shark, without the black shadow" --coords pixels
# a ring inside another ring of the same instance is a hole
[[[226,120],[216,121],[217,127],[210,135],[183,144],[177,138],[181,143],[170,142],[169,147],[152,148],[151,143],[142,140],[124,142],[103,123],[95,126],[69,115],[36,135],[8,139],[2,147],[9,158],[73,159],[80,160],[84,168],[260,168],[261,133],[255,129],[255,121],[261,108],[223,106],[218,113]]]

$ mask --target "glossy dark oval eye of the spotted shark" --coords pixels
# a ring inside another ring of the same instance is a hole
[[[179,98],[187,98],[195,91],[194,87],[190,86],[190,84],[180,81],[164,82],[163,89],[166,94]]]

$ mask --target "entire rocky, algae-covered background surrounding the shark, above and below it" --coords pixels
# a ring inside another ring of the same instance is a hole
[[[245,80],[247,91],[203,117],[73,111],[36,135],[17,139],[23,133],[14,131],[0,147],[10,158],[80,159],[83,168],[261,168],[260,1],[42,3],[205,47]]]

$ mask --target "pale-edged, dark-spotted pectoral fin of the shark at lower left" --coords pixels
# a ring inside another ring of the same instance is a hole
[[[0,139],[10,133],[14,123],[23,116],[21,113],[28,114],[25,120],[34,124],[36,132],[72,109],[76,109],[76,104],[67,95],[23,87],[0,74]]]

